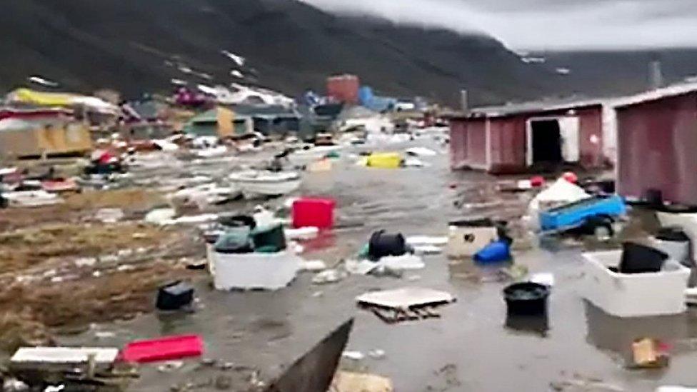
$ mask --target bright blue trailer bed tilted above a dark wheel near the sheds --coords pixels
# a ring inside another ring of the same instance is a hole
[[[543,231],[578,227],[591,216],[620,216],[627,212],[620,196],[596,196],[540,212]]]

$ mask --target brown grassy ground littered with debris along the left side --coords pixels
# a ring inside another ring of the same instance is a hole
[[[154,308],[156,288],[194,278],[201,258],[191,229],[94,221],[99,208],[126,219],[162,203],[140,189],[87,191],[66,203],[0,213],[0,348],[49,343],[53,333],[132,318]],[[200,245],[200,244],[199,244]]]

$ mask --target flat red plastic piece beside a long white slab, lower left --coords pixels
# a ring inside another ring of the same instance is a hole
[[[201,336],[179,335],[132,341],[121,351],[121,358],[126,362],[143,363],[201,356],[203,353],[204,341]]]

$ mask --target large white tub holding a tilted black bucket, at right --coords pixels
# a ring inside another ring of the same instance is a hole
[[[668,259],[657,273],[616,273],[622,251],[583,253],[582,296],[617,317],[660,316],[686,311],[690,270]]]

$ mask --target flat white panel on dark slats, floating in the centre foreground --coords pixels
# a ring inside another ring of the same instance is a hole
[[[445,291],[431,288],[405,287],[395,290],[371,291],[356,297],[356,301],[383,308],[405,309],[410,306],[450,303],[455,301],[455,297]]]

